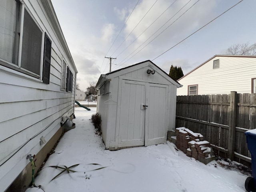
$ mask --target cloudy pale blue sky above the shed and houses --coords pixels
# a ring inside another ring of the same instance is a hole
[[[89,82],[98,81],[100,74],[109,72],[109,59],[105,56],[116,58],[112,60],[112,71],[152,60],[168,74],[172,64],[181,66],[186,74],[212,56],[226,54],[232,44],[255,43],[256,0],[243,0],[172,48],[238,2],[52,0],[78,69],[77,82],[84,91]]]

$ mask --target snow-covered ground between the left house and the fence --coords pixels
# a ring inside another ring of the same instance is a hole
[[[64,134],[36,177],[39,188],[26,192],[245,192],[246,175],[212,161],[205,165],[170,142],[148,147],[105,150],[89,119],[96,108],[76,108],[76,128]],[[76,172],[62,173],[70,167]],[[99,165],[100,164],[100,165]],[[215,167],[217,166],[217,167]],[[105,167],[105,168],[102,168]],[[101,169],[98,169],[101,168]],[[98,170],[95,170],[98,169]],[[52,181],[51,181],[52,180]]]

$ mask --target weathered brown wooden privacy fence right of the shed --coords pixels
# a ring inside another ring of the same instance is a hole
[[[177,96],[176,128],[182,126],[201,133],[218,155],[250,165],[244,132],[256,128],[256,94]]]

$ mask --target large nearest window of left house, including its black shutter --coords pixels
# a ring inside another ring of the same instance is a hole
[[[51,40],[19,0],[0,0],[0,65],[49,84]],[[41,72],[41,64],[43,64]]]

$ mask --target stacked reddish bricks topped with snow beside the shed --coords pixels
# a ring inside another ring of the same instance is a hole
[[[196,160],[211,158],[212,148],[210,143],[204,140],[202,134],[194,133],[185,127],[176,128],[175,132],[177,148],[182,150],[188,157]]]

